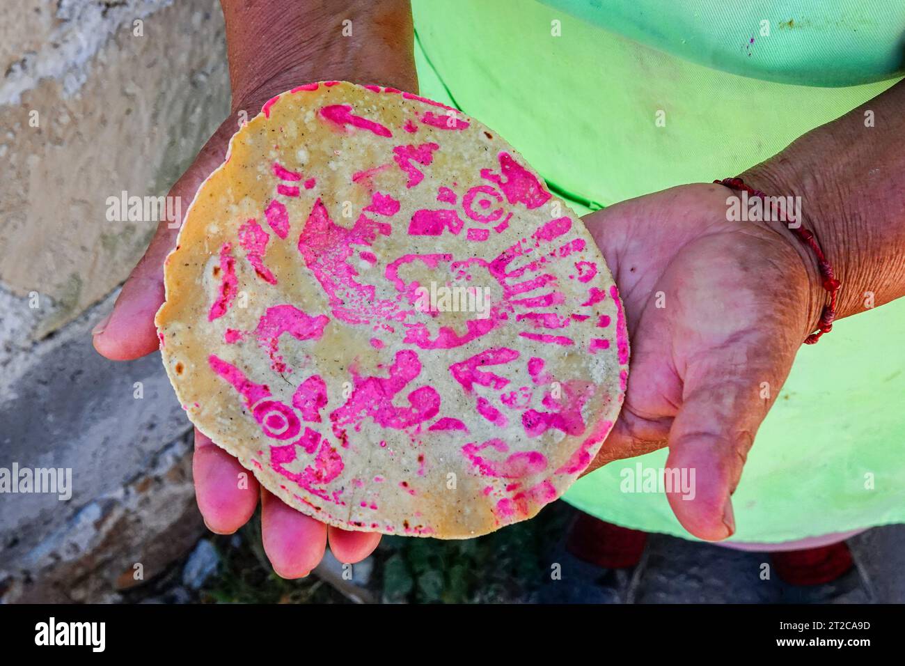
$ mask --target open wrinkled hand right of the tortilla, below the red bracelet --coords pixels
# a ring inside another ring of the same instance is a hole
[[[819,307],[794,236],[728,221],[731,196],[686,185],[585,217],[632,344],[622,413],[589,469],[669,446],[667,468],[694,468],[696,481],[693,499],[668,493],[672,510],[709,540],[735,531],[730,495]]]

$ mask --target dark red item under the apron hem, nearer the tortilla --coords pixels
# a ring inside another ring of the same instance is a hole
[[[582,513],[569,530],[566,549],[592,565],[622,569],[638,564],[646,542],[644,532],[605,523]]]

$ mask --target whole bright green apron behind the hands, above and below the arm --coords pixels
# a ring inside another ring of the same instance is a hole
[[[737,175],[902,73],[905,3],[414,0],[423,94],[500,132],[580,213]],[[737,541],[905,522],[905,299],[802,349],[734,496]],[[625,479],[666,450],[581,479],[567,500],[688,536]]]

